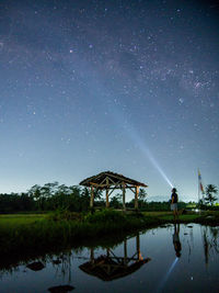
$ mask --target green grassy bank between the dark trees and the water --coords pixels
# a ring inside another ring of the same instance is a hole
[[[101,239],[103,236],[114,237],[172,222],[171,213],[124,214],[111,210],[94,214],[1,215],[0,257],[9,261],[37,256],[87,245],[91,239]],[[180,216],[180,222],[219,225],[219,213],[185,214]]]

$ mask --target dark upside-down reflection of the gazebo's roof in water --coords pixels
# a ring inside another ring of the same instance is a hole
[[[130,266],[124,266],[106,256],[100,256],[94,260],[94,263],[92,261],[88,261],[81,264],[79,268],[83,272],[97,277],[103,281],[113,281],[115,279],[119,279],[134,273],[148,261],[150,261],[149,258],[136,261]]]

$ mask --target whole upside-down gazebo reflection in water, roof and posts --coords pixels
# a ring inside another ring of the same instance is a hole
[[[91,248],[90,261],[81,264],[79,268],[103,281],[113,281],[118,278],[134,273],[150,258],[142,258],[140,253],[139,234],[136,236],[136,253],[128,257],[127,239],[124,240],[124,256],[117,257],[110,248],[106,249],[106,255],[94,258],[94,249]]]

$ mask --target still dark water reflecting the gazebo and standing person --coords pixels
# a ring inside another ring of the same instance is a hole
[[[0,292],[219,292],[219,227],[166,225],[46,256],[1,270]]]

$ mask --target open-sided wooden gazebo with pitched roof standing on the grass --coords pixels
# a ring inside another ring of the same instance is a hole
[[[135,194],[135,209],[138,210],[138,193],[139,188],[147,188],[145,183],[127,178],[123,174],[114,173],[111,171],[101,172],[96,176],[89,177],[80,182],[80,185],[84,185],[91,189],[90,207],[93,209],[94,202],[94,189],[106,191],[106,207],[110,207],[110,195],[116,190],[123,191],[123,209],[126,210],[126,189],[129,189]]]

